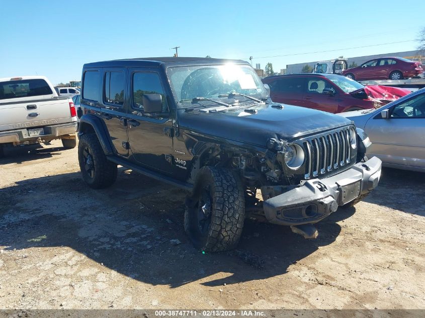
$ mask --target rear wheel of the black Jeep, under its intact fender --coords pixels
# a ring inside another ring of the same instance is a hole
[[[94,134],[82,135],[79,139],[78,162],[83,180],[94,189],[106,188],[117,179],[117,165],[106,159]]]

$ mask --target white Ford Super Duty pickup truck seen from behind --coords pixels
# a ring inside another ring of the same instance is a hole
[[[60,97],[44,76],[0,78],[0,157],[4,147],[61,139],[76,146],[72,99]]]

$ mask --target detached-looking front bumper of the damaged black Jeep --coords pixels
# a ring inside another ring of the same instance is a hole
[[[338,206],[374,189],[381,176],[381,164],[373,157],[329,178],[302,182],[301,186],[264,201],[266,219],[279,225],[317,223]]]

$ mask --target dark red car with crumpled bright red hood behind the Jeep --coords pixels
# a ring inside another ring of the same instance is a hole
[[[368,85],[335,74],[291,74],[262,79],[275,102],[329,113],[373,109],[410,93],[404,88]]]

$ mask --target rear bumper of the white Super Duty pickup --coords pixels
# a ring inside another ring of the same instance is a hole
[[[36,140],[53,140],[59,136],[74,134],[77,130],[77,122],[45,126],[44,135],[29,136],[28,129],[17,129],[6,132],[0,132],[0,144],[15,143],[22,144]]]

